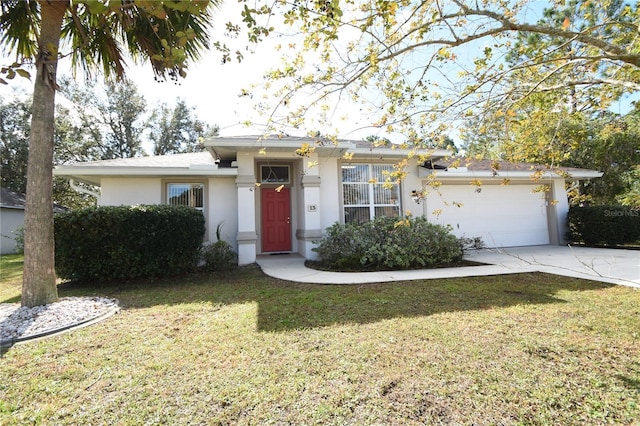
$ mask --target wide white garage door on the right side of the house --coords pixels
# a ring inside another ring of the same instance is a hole
[[[430,221],[449,224],[457,236],[481,237],[487,247],[549,244],[547,208],[536,185],[446,185],[425,203]],[[458,207],[460,204],[460,207]],[[441,214],[433,214],[440,210]]]

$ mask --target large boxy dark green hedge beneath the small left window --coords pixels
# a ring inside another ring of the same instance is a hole
[[[55,216],[56,273],[74,281],[113,281],[194,270],[205,234],[184,206],[89,207]]]

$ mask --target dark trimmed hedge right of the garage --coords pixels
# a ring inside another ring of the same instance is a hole
[[[574,243],[617,246],[640,242],[640,210],[632,207],[573,206],[567,222]]]

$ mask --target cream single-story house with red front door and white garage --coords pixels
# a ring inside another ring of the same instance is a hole
[[[567,179],[601,176],[573,169],[567,178],[540,170],[534,182],[530,166],[452,167],[447,150],[408,157],[409,150],[364,141],[273,135],[215,137],[205,146],[200,153],[57,166],[54,174],[100,187],[100,205],[200,209],[206,239],[223,224],[240,264],[274,253],[313,259],[314,241],[327,227],[379,215],[425,215],[490,247],[562,244]],[[407,158],[404,169],[394,166]],[[388,173],[402,172],[401,181],[385,183]],[[536,192],[540,185],[549,190]]]

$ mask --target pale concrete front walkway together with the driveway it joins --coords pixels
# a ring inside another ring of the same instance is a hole
[[[265,274],[315,284],[363,284],[454,277],[545,272],[640,288],[640,251],[567,246],[471,250],[465,259],[486,266],[413,271],[326,272],[304,266],[298,254],[258,256]]]

